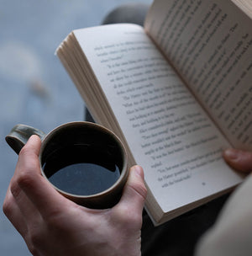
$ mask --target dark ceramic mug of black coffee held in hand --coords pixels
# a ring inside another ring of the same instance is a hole
[[[117,204],[129,175],[128,157],[112,131],[91,122],[71,122],[45,134],[28,125],[15,125],[6,136],[19,153],[32,135],[40,137],[40,170],[66,198],[89,208]]]

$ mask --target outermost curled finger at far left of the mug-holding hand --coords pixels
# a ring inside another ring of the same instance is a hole
[[[27,232],[26,221],[24,221],[23,214],[18,208],[9,187],[3,202],[3,212],[8,217],[8,220],[12,222],[17,231],[24,237]]]

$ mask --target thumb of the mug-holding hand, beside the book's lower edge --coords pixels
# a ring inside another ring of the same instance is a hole
[[[130,168],[129,179],[123,190],[123,196],[117,207],[124,216],[134,213],[141,217],[147,190],[144,185],[144,172],[140,166]]]

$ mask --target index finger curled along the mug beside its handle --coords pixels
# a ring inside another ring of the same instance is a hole
[[[19,153],[14,179],[40,215],[47,218],[57,212],[60,213],[60,207],[66,205],[69,200],[60,195],[41,175],[39,165],[40,144],[38,136],[29,138],[29,141]],[[64,202],[64,204],[60,204],[60,202]]]

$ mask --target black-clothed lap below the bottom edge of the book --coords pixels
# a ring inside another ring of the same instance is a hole
[[[213,226],[228,195],[154,227],[146,211],[143,213],[143,256],[191,256],[197,240]]]

